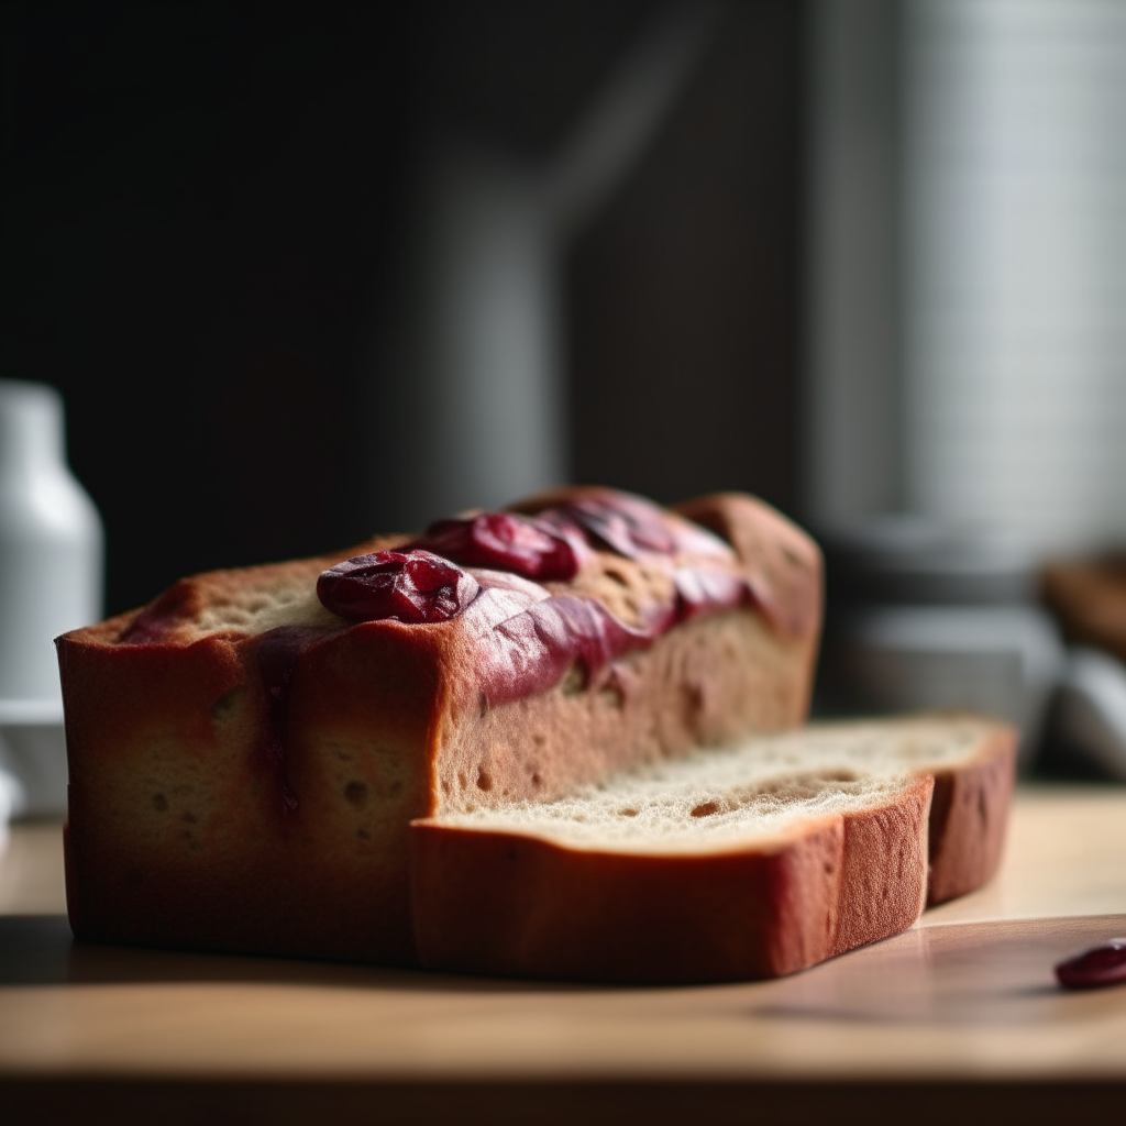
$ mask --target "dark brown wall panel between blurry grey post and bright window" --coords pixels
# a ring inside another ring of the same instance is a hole
[[[575,475],[798,488],[802,7],[739,6],[569,261]]]

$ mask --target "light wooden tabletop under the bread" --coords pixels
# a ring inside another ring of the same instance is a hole
[[[1126,986],[1064,993],[1052,975],[1126,935],[1121,787],[1021,789],[990,886],[775,982],[606,989],[97,947],[72,942],[64,909],[59,826],[15,826],[0,858],[0,1119],[754,1109],[823,1123],[911,1108],[950,1126],[1126,1111]]]

